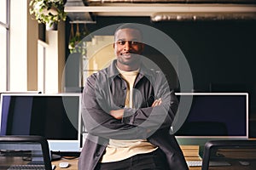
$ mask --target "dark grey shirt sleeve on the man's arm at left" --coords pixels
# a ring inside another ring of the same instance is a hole
[[[96,75],[87,79],[82,97],[82,117],[88,133],[106,139],[146,139],[147,130],[109,115],[106,90],[96,88]]]

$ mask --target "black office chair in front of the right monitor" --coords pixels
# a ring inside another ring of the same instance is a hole
[[[201,170],[255,170],[256,140],[212,140],[204,147]]]

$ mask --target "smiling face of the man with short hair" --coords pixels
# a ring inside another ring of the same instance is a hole
[[[132,66],[139,63],[139,54],[142,54],[144,47],[141,40],[140,31],[135,29],[125,28],[115,33],[113,47],[119,65]]]

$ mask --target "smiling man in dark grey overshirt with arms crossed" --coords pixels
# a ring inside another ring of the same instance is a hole
[[[135,24],[119,26],[116,59],[87,79],[82,116],[89,135],[79,169],[188,169],[169,133],[177,98],[162,73],[143,65],[142,40]]]

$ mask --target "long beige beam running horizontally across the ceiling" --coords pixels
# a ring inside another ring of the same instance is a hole
[[[106,3],[94,6],[66,6],[67,13],[91,12],[106,16],[152,16],[155,13],[256,13],[254,4],[166,4]]]

